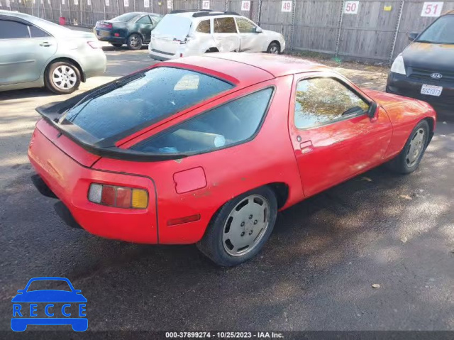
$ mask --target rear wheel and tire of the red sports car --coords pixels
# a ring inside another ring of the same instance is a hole
[[[214,214],[196,246],[217,265],[239,265],[260,252],[270,238],[276,216],[277,200],[270,187],[245,192]]]

